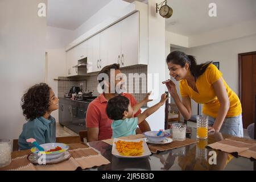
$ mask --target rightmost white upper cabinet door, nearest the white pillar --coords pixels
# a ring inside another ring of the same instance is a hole
[[[121,22],[121,67],[139,64],[139,13]]]

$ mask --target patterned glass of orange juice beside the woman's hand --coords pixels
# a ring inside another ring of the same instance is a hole
[[[196,138],[207,139],[208,137],[208,115],[197,115],[196,117]]]

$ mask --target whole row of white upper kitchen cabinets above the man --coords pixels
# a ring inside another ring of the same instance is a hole
[[[120,64],[120,67],[147,65],[146,18],[147,14],[142,15],[137,11],[72,48],[67,54],[68,60],[72,60],[67,64],[68,75],[77,75],[77,69],[72,67],[84,57],[87,57],[87,73],[99,72],[106,65],[114,63]]]

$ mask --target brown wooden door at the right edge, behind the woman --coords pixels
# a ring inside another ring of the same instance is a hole
[[[256,52],[238,55],[243,128],[255,121]]]

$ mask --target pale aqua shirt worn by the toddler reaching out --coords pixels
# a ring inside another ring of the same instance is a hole
[[[126,118],[114,120],[112,122],[112,138],[136,135],[138,118]]]

